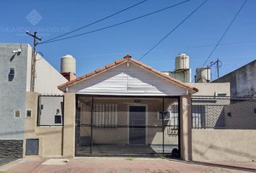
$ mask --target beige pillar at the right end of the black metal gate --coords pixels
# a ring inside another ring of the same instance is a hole
[[[185,161],[192,160],[191,95],[180,97],[180,151]]]

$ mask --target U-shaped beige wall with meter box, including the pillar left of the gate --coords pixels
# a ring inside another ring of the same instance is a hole
[[[38,93],[27,92],[26,109],[33,111],[32,117],[25,118],[25,137],[39,139],[38,156],[24,157],[74,157],[74,117],[75,117],[75,95],[64,94],[64,126],[63,127],[38,127]]]

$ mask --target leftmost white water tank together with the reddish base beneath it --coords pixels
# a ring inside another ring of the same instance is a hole
[[[68,81],[76,79],[76,60],[73,56],[66,55],[61,57],[61,74]]]

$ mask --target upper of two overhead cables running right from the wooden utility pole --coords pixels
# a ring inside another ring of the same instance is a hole
[[[103,21],[104,19],[108,19],[108,18],[110,18],[110,17],[114,17],[116,14],[119,14],[119,13],[121,13],[121,12],[125,12],[125,11],[127,11],[128,9],[132,9],[132,8],[135,7],[135,6],[138,6],[138,5],[142,4],[142,3],[144,3],[145,1],[148,1],[148,0],[140,1],[140,2],[138,2],[137,4],[134,4],[134,5],[132,5],[132,6],[129,6],[129,7],[125,8],[125,9],[122,9],[122,10],[119,11],[119,12],[115,12],[114,14],[111,14],[111,15],[109,15],[109,16],[107,16],[107,17],[103,17],[102,19],[98,19],[98,20],[96,20],[95,22],[92,22],[92,23],[90,23],[90,24],[88,24],[88,25],[79,27],[79,28],[77,28],[76,30],[72,30],[72,31],[67,32],[67,33],[65,33],[65,34],[63,34],[63,35],[59,35],[59,36],[57,36],[57,37],[53,37],[53,38],[51,38],[51,39],[49,39],[49,40],[46,40],[46,41],[44,41],[44,42],[42,42],[42,43],[46,43],[46,42],[48,42],[48,41],[55,40],[56,38],[63,37],[64,35],[69,35],[69,34],[71,34],[72,32],[76,32],[76,31],[78,31],[78,30],[82,30],[82,29],[85,28],[85,27],[89,27],[89,26],[94,25],[94,24],[96,24],[96,23],[98,23],[98,22],[101,22],[101,21]]]

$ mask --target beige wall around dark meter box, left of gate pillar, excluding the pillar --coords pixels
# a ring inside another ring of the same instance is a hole
[[[38,127],[37,111],[38,111],[38,93],[27,92],[26,94],[26,109],[32,110],[32,117],[25,117],[25,135],[24,147],[26,145],[26,138],[39,139],[38,156],[61,156],[61,138],[62,127]],[[24,157],[26,156],[25,150],[23,151]]]

